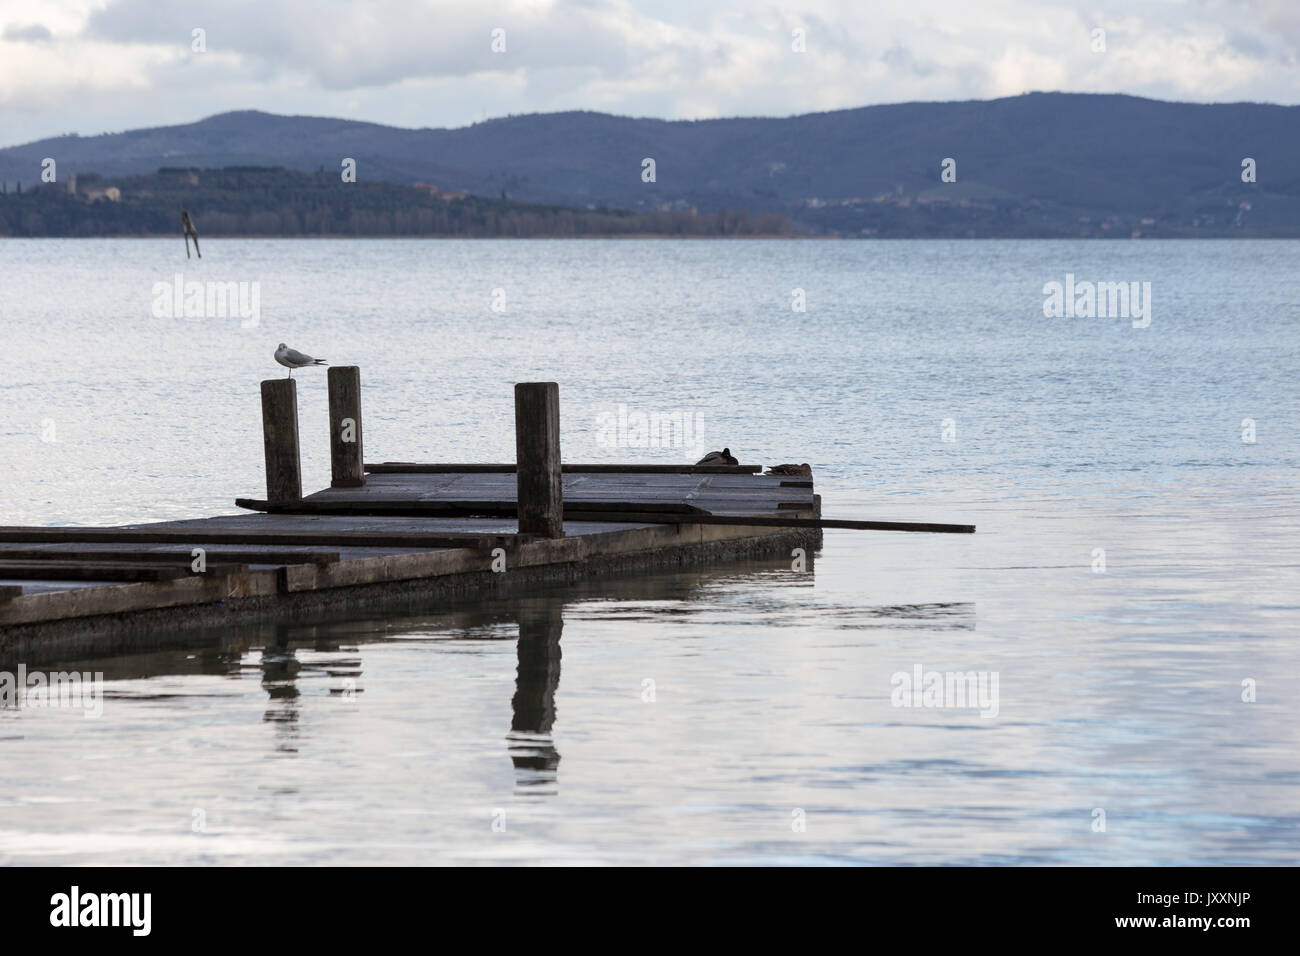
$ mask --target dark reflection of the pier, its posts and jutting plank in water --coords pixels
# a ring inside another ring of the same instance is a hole
[[[489,602],[462,598],[446,602],[426,597],[406,607],[402,617],[372,618],[360,613],[337,615],[317,611],[299,623],[248,624],[239,628],[204,630],[190,633],[187,649],[70,661],[61,666],[103,671],[109,682],[107,697],[148,697],[114,692],[112,682],[168,675],[244,676],[260,682],[265,693],[261,719],[272,734],[268,748],[292,757],[304,739],[313,708],[321,700],[352,698],[364,713],[364,667],[367,648],[402,644],[422,636],[439,644],[455,643],[471,649],[482,646],[493,667],[500,671],[499,652],[489,645],[515,640],[515,680],[508,730],[484,730],[481,745],[502,748],[514,767],[517,797],[546,797],[559,792],[560,748],[554,734],[563,726],[556,709],[562,676],[564,618],[581,622],[601,619],[611,602],[620,614],[640,620],[662,615],[681,620],[692,602],[710,607],[708,594],[719,585],[731,588],[814,585],[809,555],[805,572],[793,572],[788,561],[737,562],[705,571],[658,572],[641,576],[588,579],[569,587],[551,587]],[[971,604],[881,605],[826,609],[832,627],[872,628],[974,627]],[[372,662],[373,667],[373,662]],[[342,701],[341,701],[342,702]],[[503,702],[503,701],[502,701]],[[344,718],[346,719],[346,718]],[[572,722],[573,714],[569,714]],[[578,728],[581,730],[581,728]],[[480,731],[476,731],[480,732]],[[569,728],[573,732],[573,728]],[[503,745],[504,744],[504,745]]]

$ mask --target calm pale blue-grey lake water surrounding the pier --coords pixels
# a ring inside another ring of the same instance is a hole
[[[203,250],[0,241],[4,523],[233,512],[283,341],[361,367],[368,460],[511,460],[546,378],[569,460],[728,445],[979,532],[75,662],[103,717],[0,710],[0,862],[1297,862],[1300,243]],[[159,315],[177,273],[256,324]],[[1149,325],[1045,317],[1067,273]],[[896,706],[918,667],[996,714]]]

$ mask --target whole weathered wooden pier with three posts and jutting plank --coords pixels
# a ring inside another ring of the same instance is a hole
[[[789,557],[835,522],[812,481],[760,466],[573,464],[559,388],[515,386],[516,462],[365,464],[360,371],[329,369],[330,486],[303,496],[298,393],[261,382],[266,497],[248,514],[120,527],[0,527],[0,661],[147,649],[194,627],[394,600]]]

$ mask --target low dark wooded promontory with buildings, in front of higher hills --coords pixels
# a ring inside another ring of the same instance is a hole
[[[283,166],[169,166],[148,176],[69,173],[65,182],[0,194],[0,237],[181,235],[781,235],[780,213],[572,209],[445,193],[432,186],[343,182]]]

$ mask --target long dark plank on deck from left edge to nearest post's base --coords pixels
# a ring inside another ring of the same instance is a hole
[[[256,519],[240,518],[254,524]],[[277,545],[346,546],[346,548],[495,548],[502,541],[512,541],[514,533],[420,531],[285,531],[250,527],[240,531],[199,531],[187,528],[14,528],[0,527],[0,542],[100,542],[100,544],[178,544],[178,545]]]

